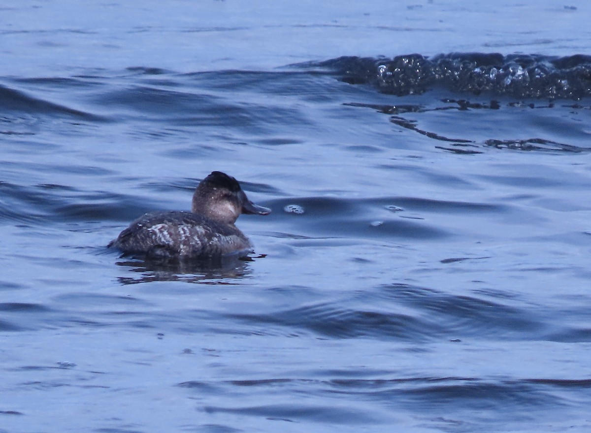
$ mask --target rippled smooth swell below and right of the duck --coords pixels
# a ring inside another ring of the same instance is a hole
[[[267,334],[311,333],[335,339],[430,341],[453,336],[520,340],[527,335],[546,335],[544,322],[519,299],[507,298],[504,293],[455,295],[402,283],[334,302],[304,303],[256,313],[234,312],[225,317],[250,332],[265,329]]]

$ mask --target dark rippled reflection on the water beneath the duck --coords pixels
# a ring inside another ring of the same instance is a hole
[[[182,281],[215,285],[231,285],[228,279],[241,279],[251,273],[249,262],[261,256],[229,256],[192,261],[154,261],[122,257],[118,266],[129,267],[130,276],[118,277],[123,285],[157,281]],[[137,273],[134,276],[132,273]]]

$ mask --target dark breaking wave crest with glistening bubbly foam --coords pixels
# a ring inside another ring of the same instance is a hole
[[[591,56],[583,54],[407,54],[392,59],[339,57],[301,66],[326,68],[344,82],[368,83],[398,96],[424,93],[436,86],[517,98],[580,99],[591,95]]]

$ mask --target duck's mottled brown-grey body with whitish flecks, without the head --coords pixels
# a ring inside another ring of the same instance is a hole
[[[136,219],[108,247],[125,254],[182,260],[239,253],[252,245],[233,224],[191,212],[157,212]]]

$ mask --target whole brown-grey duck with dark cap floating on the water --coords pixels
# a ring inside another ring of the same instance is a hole
[[[197,185],[191,212],[144,214],[107,247],[123,256],[181,261],[246,254],[253,245],[234,225],[236,219],[270,213],[251,202],[234,177],[212,172]]]

